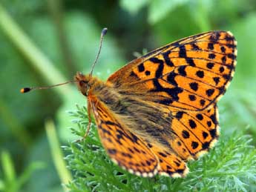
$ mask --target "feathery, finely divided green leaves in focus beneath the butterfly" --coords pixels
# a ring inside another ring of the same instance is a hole
[[[76,119],[74,134],[82,137],[88,124],[87,110],[69,112]],[[226,139],[224,139],[226,138]],[[71,142],[65,150],[74,179],[70,191],[255,191],[256,149],[252,137],[233,133],[221,136],[217,145],[197,161],[189,162],[186,178],[165,176],[141,178],[123,171],[108,159],[93,125],[82,142]]]

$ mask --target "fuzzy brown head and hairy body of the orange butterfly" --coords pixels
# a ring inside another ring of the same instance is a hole
[[[79,90],[88,97],[91,105],[102,102],[120,125],[131,133],[136,133],[148,142],[159,142],[167,145],[163,136],[171,136],[171,111],[168,108],[155,106],[151,102],[138,99],[136,96],[124,94],[108,82],[77,73],[75,76]],[[154,113],[152,113],[154,112]]]

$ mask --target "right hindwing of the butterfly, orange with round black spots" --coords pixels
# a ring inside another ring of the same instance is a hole
[[[182,159],[197,159],[217,142],[219,136],[217,106],[199,112],[172,112],[171,129],[176,137],[171,146]]]

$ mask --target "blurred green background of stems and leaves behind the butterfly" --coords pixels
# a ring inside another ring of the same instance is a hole
[[[45,127],[54,122],[60,145],[76,139],[66,112],[85,105],[85,97],[74,85],[25,95],[19,90],[88,73],[103,27],[108,35],[94,70],[100,79],[144,48],[208,30],[232,31],[237,69],[219,103],[220,127],[223,136],[243,132],[256,143],[256,1],[1,0],[0,191],[63,191],[50,152],[54,132]]]

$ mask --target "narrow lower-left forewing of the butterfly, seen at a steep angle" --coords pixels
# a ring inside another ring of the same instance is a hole
[[[123,128],[114,114],[96,98],[89,98],[98,126],[102,145],[111,160],[123,169],[138,176],[154,176],[158,159],[144,142]]]

